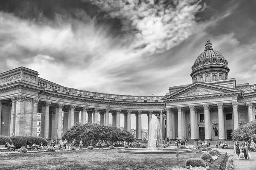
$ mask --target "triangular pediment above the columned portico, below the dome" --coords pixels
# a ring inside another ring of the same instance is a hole
[[[216,94],[240,93],[239,90],[220,85],[211,85],[203,82],[195,82],[187,87],[164,97],[165,99],[191,98],[194,96],[215,96]]]

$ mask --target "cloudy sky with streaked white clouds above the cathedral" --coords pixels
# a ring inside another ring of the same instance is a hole
[[[228,77],[256,84],[255,0],[0,0],[0,72],[24,66],[64,87],[164,96],[192,83],[207,29]]]

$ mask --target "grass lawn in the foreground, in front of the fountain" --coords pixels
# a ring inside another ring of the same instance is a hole
[[[171,170],[184,167],[186,159],[201,154],[180,154],[176,164],[174,155],[128,154],[113,150],[76,150],[42,153],[0,155],[1,170]]]

